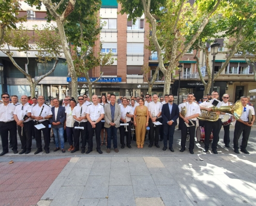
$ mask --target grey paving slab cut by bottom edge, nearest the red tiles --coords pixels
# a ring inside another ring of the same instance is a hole
[[[79,204],[83,191],[84,186],[62,186],[50,206],[76,206]]]

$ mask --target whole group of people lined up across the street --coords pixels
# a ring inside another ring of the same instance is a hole
[[[160,101],[157,94],[151,97],[146,94],[145,99],[143,95],[141,97],[131,96],[130,99],[121,97],[117,102],[114,94],[102,95],[101,97],[93,95],[92,102],[88,101],[88,96],[84,94],[79,96],[77,101],[65,97],[62,106],[59,104],[59,99],[54,98],[51,107],[44,104],[43,96],[32,98],[33,104],[28,102],[29,99],[26,95],[21,96],[21,104],[19,104],[16,95],[11,97],[12,103],[10,103],[9,94],[4,93],[1,97],[3,104],[0,105],[0,135],[3,152],[0,153],[0,156],[5,155],[9,151],[9,147],[12,148],[13,153],[18,153],[17,129],[22,148],[20,155],[31,152],[32,136],[35,136],[36,140],[37,151],[35,155],[42,151],[41,133],[44,140],[43,149],[46,153],[49,153],[51,129],[56,146],[53,151],[61,150],[63,153],[66,152],[64,136],[67,137],[70,145],[68,151],[71,153],[79,151],[80,143],[82,143],[81,153],[88,154],[93,150],[93,136],[95,135],[96,150],[101,154],[104,130],[107,153],[111,152],[111,144],[113,144],[114,151],[118,152],[117,129],[120,131],[122,149],[125,146],[131,148],[131,140],[136,141],[138,148],[143,148],[146,131],[148,130],[149,148],[153,145],[160,148],[159,141],[163,141],[162,150],[165,151],[169,141],[169,149],[174,152],[173,136],[178,118],[181,128],[180,152],[184,152],[186,149],[186,137],[189,133],[191,137],[189,152],[193,154],[196,119],[202,110],[212,111],[212,101],[218,99],[219,94],[217,91],[213,91],[210,97],[211,100],[204,96],[203,102],[198,104],[194,101],[194,95],[189,93],[187,99],[183,99],[183,103],[179,106],[174,104],[172,94],[160,97]],[[228,101],[229,94],[224,94],[222,100],[223,106],[231,105]],[[240,150],[249,153],[246,147],[251,126],[255,120],[254,109],[247,105],[249,101],[247,97],[242,96],[240,100],[243,104],[243,112],[235,124],[234,152],[239,153],[238,139],[243,133]],[[253,116],[251,123],[248,119],[249,110]],[[225,113],[216,111],[216,114],[219,118],[215,122],[207,121],[207,119],[200,121],[200,126],[203,126],[205,131],[203,151],[208,151],[210,135],[213,133],[212,151],[215,154],[218,153],[217,144],[221,129],[221,118]],[[135,133],[132,132],[134,130]],[[133,136],[132,133],[134,133]],[[229,126],[224,126],[224,133],[224,144],[226,147],[230,147]],[[8,138],[10,140],[9,147]],[[87,143],[87,151],[85,151]]]

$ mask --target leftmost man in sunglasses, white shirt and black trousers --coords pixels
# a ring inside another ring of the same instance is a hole
[[[2,140],[3,152],[0,156],[9,152],[8,148],[8,134],[10,133],[10,140],[12,142],[12,150],[14,154],[18,153],[17,142],[17,125],[13,118],[15,106],[10,103],[10,95],[4,93],[1,95],[3,104],[0,104],[0,135]]]

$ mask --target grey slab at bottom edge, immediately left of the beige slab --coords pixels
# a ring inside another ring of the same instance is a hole
[[[134,194],[131,185],[109,186],[108,206],[135,206]]]

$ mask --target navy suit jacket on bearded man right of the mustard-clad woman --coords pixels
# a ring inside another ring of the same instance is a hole
[[[163,105],[162,107],[162,118],[163,118],[162,124],[163,125],[168,125],[167,122],[169,122],[170,120],[173,120],[174,122],[172,125],[176,126],[178,116],[179,116],[178,105],[174,103],[172,104],[172,112],[170,112],[169,103]]]

